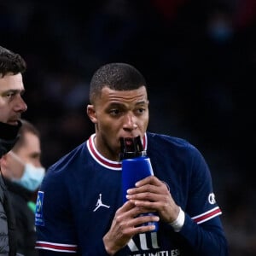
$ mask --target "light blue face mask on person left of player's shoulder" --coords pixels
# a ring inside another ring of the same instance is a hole
[[[25,189],[35,191],[39,188],[43,181],[45,174],[44,167],[36,167],[32,164],[27,163],[24,167],[24,172],[20,179],[13,178],[14,183],[20,184]]]

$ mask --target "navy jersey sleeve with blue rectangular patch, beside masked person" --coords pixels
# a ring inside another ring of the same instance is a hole
[[[47,172],[38,191],[35,224],[36,247],[44,255],[77,253],[78,246],[66,183],[58,172]],[[49,254],[48,254],[49,253]]]

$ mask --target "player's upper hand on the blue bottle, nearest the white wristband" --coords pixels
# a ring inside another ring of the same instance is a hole
[[[148,209],[148,212],[158,212],[160,219],[172,223],[177,219],[179,207],[173,201],[166,186],[157,177],[145,177],[136,183],[136,188],[128,189],[127,199],[136,207]]]

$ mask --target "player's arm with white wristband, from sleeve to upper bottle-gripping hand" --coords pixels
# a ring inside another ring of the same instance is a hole
[[[197,150],[191,152],[195,155],[192,158],[191,189],[186,206],[179,208],[166,185],[153,176],[144,178],[136,184],[136,188],[129,189],[128,199],[137,207],[158,212],[160,220],[179,232],[198,255],[226,256],[227,241],[218,216],[221,212],[215,201],[209,201],[212,177],[201,154]],[[196,212],[201,214],[199,221],[194,215]]]

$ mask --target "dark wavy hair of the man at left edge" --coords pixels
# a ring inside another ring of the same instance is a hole
[[[26,71],[26,61],[15,52],[0,46],[0,77],[7,73],[24,73]]]

